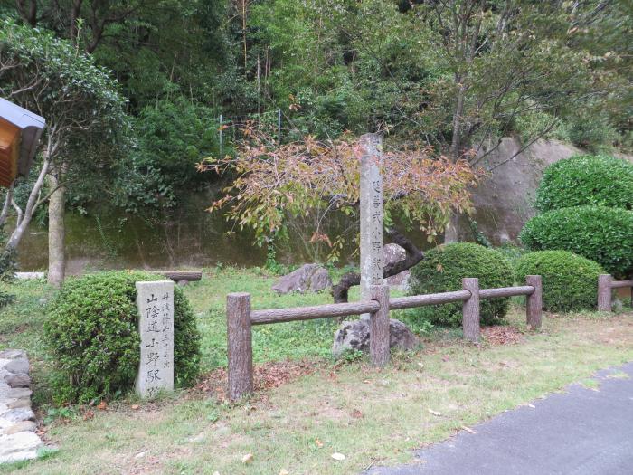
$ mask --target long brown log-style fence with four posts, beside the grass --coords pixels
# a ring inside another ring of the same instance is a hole
[[[462,326],[464,337],[479,341],[479,300],[526,297],[527,324],[535,329],[541,327],[543,315],[543,286],[540,275],[526,277],[524,286],[497,289],[479,289],[479,280],[465,278],[462,290],[411,297],[389,298],[389,286],[372,287],[372,299],[363,302],[297,307],[294,309],[250,309],[250,294],[231,293],[226,298],[226,322],[228,338],[229,399],[236,401],[253,390],[252,331],[253,325],[265,325],[315,318],[348,317],[370,314],[369,352],[373,366],[389,363],[389,311],[411,309],[425,305],[463,302]],[[609,294],[610,295],[610,294]],[[610,308],[610,307],[609,307]]]

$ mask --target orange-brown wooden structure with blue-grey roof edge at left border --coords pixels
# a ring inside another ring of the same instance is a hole
[[[40,142],[44,119],[0,99],[0,186],[27,176]]]

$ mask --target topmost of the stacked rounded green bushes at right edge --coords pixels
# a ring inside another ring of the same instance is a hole
[[[633,163],[579,155],[548,166],[536,190],[536,209],[600,205],[633,209]]]

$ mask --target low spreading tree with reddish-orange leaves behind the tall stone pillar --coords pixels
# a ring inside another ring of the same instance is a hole
[[[287,234],[293,218],[314,214],[310,241],[326,242],[330,259],[338,260],[345,239],[357,236],[362,155],[358,142],[346,136],[332,141],[308,136],[278,147],[274,138],[256,128],[246,128],[245,136],[237,157],[212,158],[199,166],[237,174],[209,210],[225,209],[227,218],[241,229],[252,229],[260,244]],[[465,160],[430,157],[428,148],[384,152],[381,172],[386,233],[407,251],[406,261],[384,269],[384,277],[390,277],[423,258],[395,223],[415,223],[432,240],[450,213],[471,211],[468,187],[477,183],[478,174]],[[344,214],[349,226],[328,236],[322,224],[331,214]],[[333,288],[335,301],[346,301],[349,288],[359,283],[360,275],[346,274]]]

